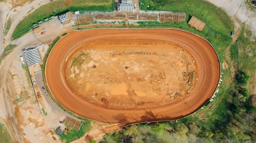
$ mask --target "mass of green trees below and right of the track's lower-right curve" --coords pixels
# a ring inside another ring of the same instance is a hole
[[[248,79],[246,73],[238,71],[236,80],[224,95],[227,100],[221,101],[224,106],[211,115],[204,114],[201,117],[199,113],[198,116],[188,116],[177,121],[131,125],[121,131],[106,134],[101,142],[164,142],[159,136],[166,133],[178,133],[184,137],[194,134],[199,138],[210,138],[218,142],[226,142],[227,139],[255,140],[255,107],[244,88]]]

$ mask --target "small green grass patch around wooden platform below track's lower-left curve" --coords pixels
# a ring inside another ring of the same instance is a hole
[[[61,141],[63,141],[63,142],[71,142],[73,140],[76,140],[76,139],[82,137],[84,134],[86,134],[87,131],[89,131],[89,129],[90,129],[90,121],[89,120],[83,121],[79,131],[75,130],[75,129],[69,127],[69,126],[66,126],[66,127],[70,130],[70,132],[68,132],[67,135],[65,135],[63,133],[63,134],[61,134],[59,136],[60,136]]]

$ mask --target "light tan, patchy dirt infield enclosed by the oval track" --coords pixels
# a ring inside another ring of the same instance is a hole
[[[186,97],[196,84],[195,59],[174,43],[88,41],[71,51],[66,77],[84,101],[105,108],[148,108]]]

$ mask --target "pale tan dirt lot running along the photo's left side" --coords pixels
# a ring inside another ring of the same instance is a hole
[[[0,120],[1,123],[6,124],[12,139],[16,142],[54,142],[49,131],[54,130],[59,125],[59,120],[68,116],[68,113],[60,109],[50,97],[46,97],[45,110],[47,116],[42,115],[31,83],[28,81],[25,70],[19,61],[23,48],[48,44],[60,34],[68,31],[63,29],[57,19],[42,24],[42,27],[45,30],[45,35],[34,35],[30,32],[12,42],[6,40],[5,44],[11,42],[17,44],[17,47],[0,65]],[[41,47],[42,55],[44,55],[47,48],[48,46]],[[21,94],[16,93],[13,75],[17,75],[19,83],[22,85]],[[17,100],[19,98],[20,101]],[[57,136],[55,135],[55,137]],[[60,142],[60,140],[57,142]]]

